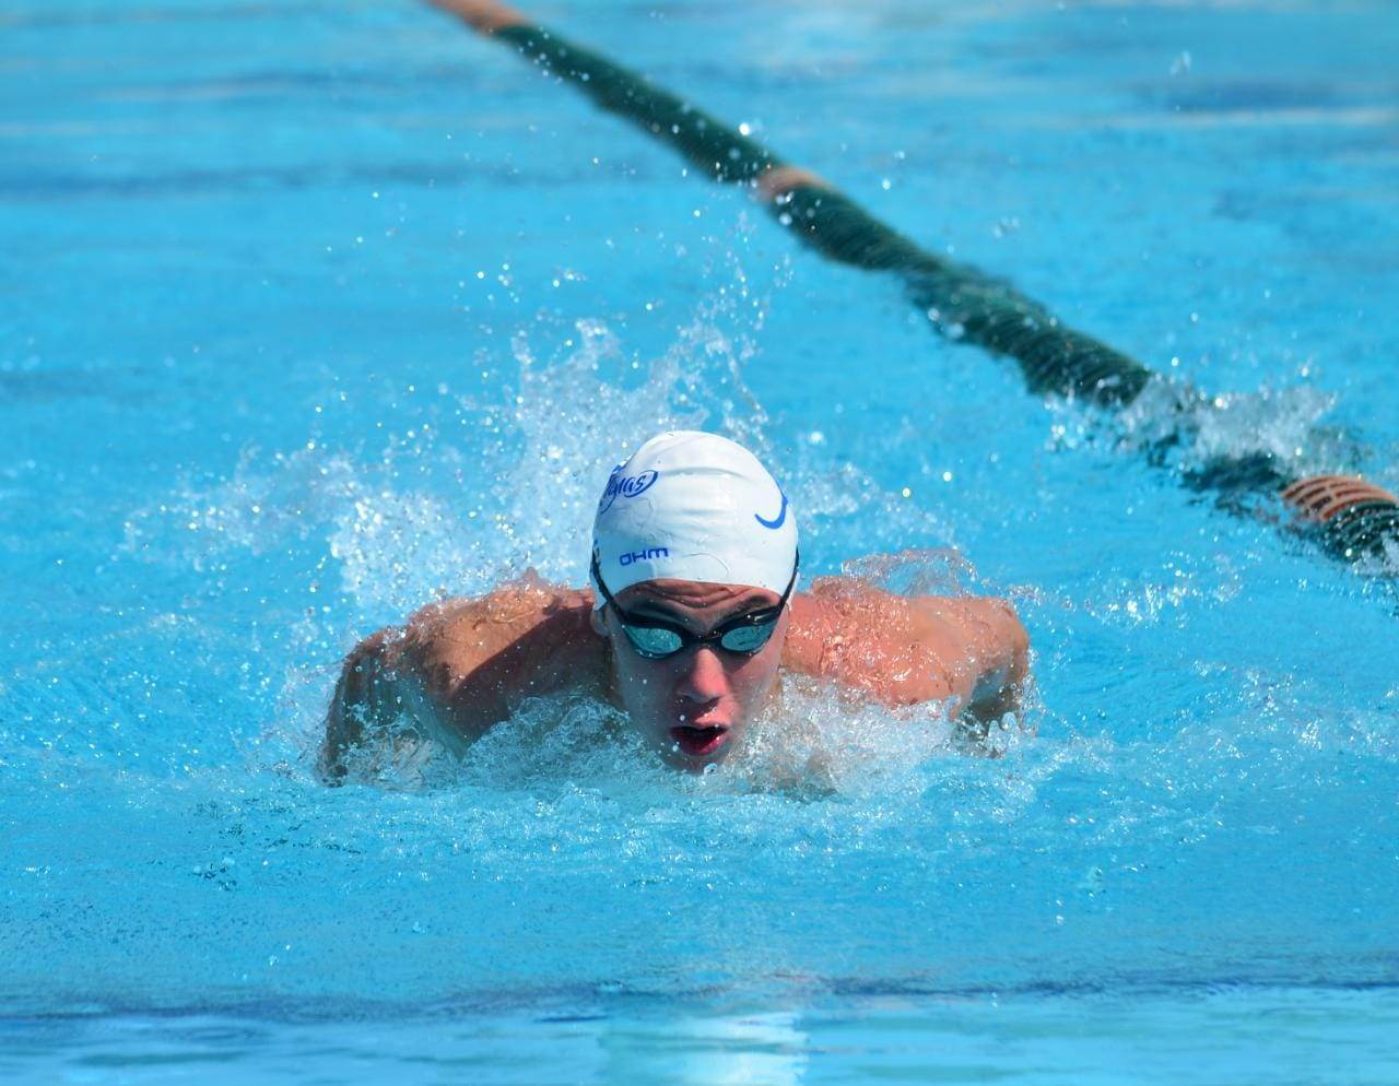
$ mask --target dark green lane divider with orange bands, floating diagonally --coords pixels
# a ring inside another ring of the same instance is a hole
[[[816,173],[785,162],[687,99],[515,8],[497,0],[429,1],[669,144],[712,180],[753,189],[782,226],[827,259],[894,275],[939,333],[1014,359],[1030,391],[1086,400],[1111,411],[1136,400],[1153,379],[1164,380],[1136,359],[1067,327],[1004,280],[928,252]],[[1241,489],[1277,495],[1297,513],[1290,528],[1343,560],[1399,553],[1399,499],[1393,495],[1358,478],[1294,479],[1272,461],[1256,465],[1247,460],[1216,461],[1192,472],[1189,484],[1228,495]]]

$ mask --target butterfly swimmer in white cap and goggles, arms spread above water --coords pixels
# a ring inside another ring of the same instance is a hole
[[[902,597],[845,577],[797,591],[796,512],[741,446],[677,430],[607,479],[589,587],[529,576],[448,600],[350,653],[322,746],[330,781],[407,717],[464,749],[526,697],[585,693],[623,710],[672,766],[722,762],[782,672],[970,721],[1018,707],[1028,637],[996,598]]]

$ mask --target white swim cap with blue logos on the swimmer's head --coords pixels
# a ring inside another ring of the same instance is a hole
[[[796,569],[796,517],[741,444],[673,430],[613,468],[593,519],[593,556],[613,595],[656,577],[781,595]],[[600,608],[596,580],[593,591]]]

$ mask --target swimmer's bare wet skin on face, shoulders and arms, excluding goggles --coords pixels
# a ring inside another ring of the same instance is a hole
[[[680,580],[617,597],[630,614],[695,635],[776,601],[762,588]],[[890,706],[944,702],[974,720],[1014,710],[1028,675],[1025,630],[995,598],[901,597],[824,577],[789,600],[753,656],[706,644],[665,660],[641,657],[614,608],[592,605],[589,590],[526,576],[481,598],[431,604],[404,628],[365,639],[330,703],[323,777],[343,780],[348,755],[396,742],[385,737],[404,718],[464,751],[532,696],[609,700],[666,762],[700,770],[739,746],[779,672],[830,679]]]

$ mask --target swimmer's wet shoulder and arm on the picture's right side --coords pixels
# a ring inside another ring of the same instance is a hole
[[[783,665],[887,704],[947,700],[988,721],[1018,707],[1028,649],[1004,600],[902,597],[831,577],[792,601]]]

